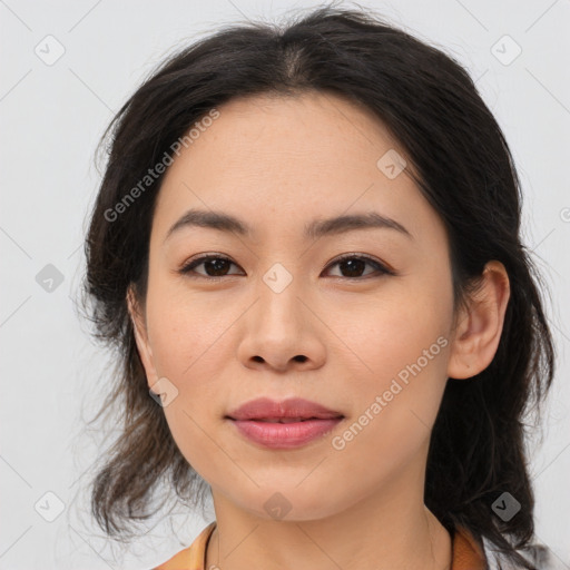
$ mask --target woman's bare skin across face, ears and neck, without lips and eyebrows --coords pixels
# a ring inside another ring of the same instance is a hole
[[[379,169],[387,150],[405,153],[365,109],[305,94],[234,99],[219,112],[167,170],[145,307],[128,295],[148,385],[166,377],[176,386],[168,425],[212,487],[206,568],[449,568],[450,535],[423,502],[430,433],[448,377],[473,376],[497,351],[504,267],[490,262],[469,309],[454,313],[444,226],[405,169],[393,179]],[[232,214],[252,236],[186,227],[165,242],[189,208]],[[303,238],[315,218],[366,212],[412,237],[374,228]],[[348,253],[395,275],[336,263]],[[198,254],[232,264],[177,273]],[[292,278],[281,293],[263,278],[276,263]],[[335,449],[332,438],[438,338],[445,346]],[[224,419],[258,396],[305,397],[345,419],[305,446],[265,449]],[[283,520],[264,508],[277,492],[291,508]]]

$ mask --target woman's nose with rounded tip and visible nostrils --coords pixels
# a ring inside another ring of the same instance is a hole
[[[293,283],[276,293],[264,283],[244,315],[238,358],[247,367],[274,372],[318,368],[326,355],[325,325],[317,307]]]

